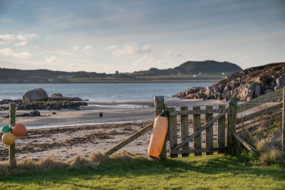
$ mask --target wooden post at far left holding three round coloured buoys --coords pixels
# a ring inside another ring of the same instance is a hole
[[[16,103],[9,104],[9,127],[12,129],[16,124]],[[9,164],[11,167],[16,166],[15,143],[9,146]]]

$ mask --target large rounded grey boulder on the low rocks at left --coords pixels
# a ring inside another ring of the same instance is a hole
[[[34,101],[47,101],[47,100],[48,100],[48,94],[46,93],[46,90],[43,90],[43,88],[36,88],[33,90],[29,90],[23,95],[24,104]]]

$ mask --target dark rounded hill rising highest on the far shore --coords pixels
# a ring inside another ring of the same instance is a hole
[[[215,60],[204,61],[187,61],[178,67],[168,69],[150,68],[150,70],[142,70],[135,72],[140,75],[229,75],[242,70],[238,65],[229,62],[218,62]]]

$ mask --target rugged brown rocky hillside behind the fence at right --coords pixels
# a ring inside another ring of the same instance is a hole
[[[252,100],[285,86],[285,63],[270,63],[234,73],[207,88],[195,87],[173,97]]]

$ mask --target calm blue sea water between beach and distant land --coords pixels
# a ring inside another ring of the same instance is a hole
[[[49,96],[61,93],[83,100],[153,100],[155,95],[171,98],[193,86],[212,83],[81,83],[81,84],[0,84],[0,99],[19,99],[34,88],[43,88]]]

